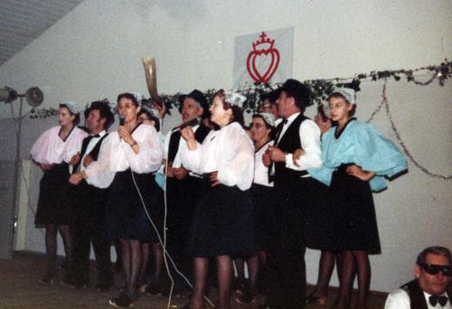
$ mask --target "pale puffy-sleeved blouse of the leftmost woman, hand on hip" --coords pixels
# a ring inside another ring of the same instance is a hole
[[[83,138],[88,133],[79,127],[74,127],[71,134],[63,141],[60,136],[61,126],[53,126],[34,142],[30,150],[30,156],[34,162],[40,164],[69,163],[73,155],[77,154]]]

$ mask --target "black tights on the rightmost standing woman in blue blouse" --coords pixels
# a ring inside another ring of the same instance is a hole
[[[353,288],[354,274],[358,276],[358,301],[356,307],[366,307],[371,285],[371,264],[367,251],[347,250],[341,252],[342,278],[340,280],[340,294],[337,304],[346,306],[350,304]]]

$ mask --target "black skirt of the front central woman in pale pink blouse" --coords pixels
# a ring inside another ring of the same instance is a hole
[[[220,184],[201,197],[187,244],[192,257],[249,257],[254,253],[249,194]]]

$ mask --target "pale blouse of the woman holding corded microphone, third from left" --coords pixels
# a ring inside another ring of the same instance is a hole
[[[130,168],[135,173],[153,173],[160,167],[164,151],[155,127],[139,125],[132,137],[139,145],[138,154],[119,137],[118,131],[105,137],[100,145],[98,160],[89,164],[85,170],[87,183],[98,188],[108,188],[117,172]]]

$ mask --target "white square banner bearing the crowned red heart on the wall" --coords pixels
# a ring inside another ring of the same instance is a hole
[[[272,84],[292,78],[294,27],[235,38],[232,85]]]

